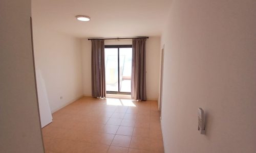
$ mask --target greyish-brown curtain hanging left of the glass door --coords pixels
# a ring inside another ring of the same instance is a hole
[[[106,97],[104,40],[92,40],[92,96]]]

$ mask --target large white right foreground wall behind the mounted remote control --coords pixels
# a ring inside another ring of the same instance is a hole
[[[165,152],[255,152],[255,1],[173,1],[165,46]],[[197,108],[206,135],[197,131]]]

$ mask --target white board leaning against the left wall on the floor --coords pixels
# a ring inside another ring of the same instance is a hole
[[[52,113],[50,110],[45,81],[42,78],[41,71],[36,69],[36,85],[39,104],[39,113],[41,119],[41,128],[52,122]]]

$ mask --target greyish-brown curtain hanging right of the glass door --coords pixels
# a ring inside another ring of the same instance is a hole
[[[146,38],[133,39],[132,99],[146,100]]]

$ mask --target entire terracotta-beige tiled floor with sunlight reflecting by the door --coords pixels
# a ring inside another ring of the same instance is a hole
[[[83,97],[42,129],[46,153],[164,152],[157,101]]]

